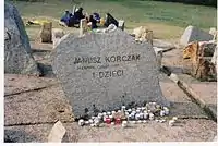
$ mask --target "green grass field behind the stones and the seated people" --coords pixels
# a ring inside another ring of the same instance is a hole
[[[202,5],[186,5],[149,0],[46,0],[46,2],[14,2],[23,19],[48,17],[57,22],[63,12],[74,4],[83,7],[88,13],[110,12],[116,19],[125,20],[126,29],[146,25],[158,38],[178,38],[187,25],[205,31],[217,26],[217,9]],[[56,26],[56,24],[55,24]],[[27,27],[34,36],[35,27]]]

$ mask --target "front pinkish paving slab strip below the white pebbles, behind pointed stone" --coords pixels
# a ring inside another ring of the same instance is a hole
[[[4,126],[8,138],[20,143],[46,143],[53,124]],[[216,136],[217,124],[210,120],[185,119],[181,124],[170,127],[168,123],[155,121],[146,124],[135,124],[123,129],[109,125],[99,129],[84,126],[77,123],[63,123],[66,129],[62,143],[77,142],[211,142]]]

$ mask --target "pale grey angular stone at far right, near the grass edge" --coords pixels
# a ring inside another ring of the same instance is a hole
[[[192,42],[195,40],[209,41],[213,38],[214,38],[214,36],[207,32],[204,32],[194,26],[187,26],[180,39],[180,44],[183,46],[186,46],[189,42]]]

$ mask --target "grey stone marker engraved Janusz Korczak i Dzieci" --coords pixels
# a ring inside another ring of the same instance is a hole
[[[76,118],[145,101],[169,106],[154,50],[119,28],[81,38],[69,35],[57,46],[52,66]]]

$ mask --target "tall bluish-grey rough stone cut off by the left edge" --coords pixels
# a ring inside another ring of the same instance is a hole
[[[19,11],[4,3],[4,73],[39,75]]]

